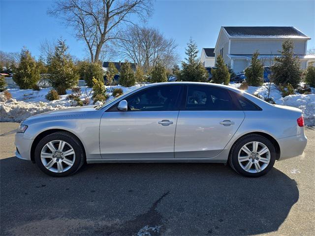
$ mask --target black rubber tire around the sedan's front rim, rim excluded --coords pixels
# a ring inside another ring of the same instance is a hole
[[[51,141],[54,140],[62,140],[66,143],[68,143],[74,150],[75,153],[75,160],[74,160],[74,164],[73,166],[63,172],[63,173],[55,173],[55,172],[51,172],[49,171],[41,162],[41,158],[40,158],[40,152],[42,150],[42,148]],[[77,170],[79,170],[79,168],[82,166],[83,162],[84,162],[84,151],[83,148],[80,144],[80,142],[78,141],[78,139],[71,134],[65,133],[65,132],[58,132],[58,133],[53,133],[50,135],[47,135],[46,137],[44,137],[42,140],[40,140],[35,148],[35,152],[34,152],[34,159],[35,159],[35,163],[38,166],[38,168],[44,172],[47,175],[53,176],[53,177],[65,177],[65,176],[69,176],[74,174]]]

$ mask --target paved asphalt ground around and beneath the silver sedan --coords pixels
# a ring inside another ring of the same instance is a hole
[[[90,164],[52,178],[13,157],[16,127],[0,123],[0,235],[315,235],[312,128],[305,155],[260,178],[219,164]]]

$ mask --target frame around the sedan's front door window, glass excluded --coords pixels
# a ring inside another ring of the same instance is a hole
[[[177,98],[176,98],[176,102],[175,102],[175,106],[177,107],[176,110],[170,110],[170,111],[138,111],[138,110],[127,110],[127,111],[119,111],[119,110],[117,110],[117,111],[115,111],[115,110],[111,110],[114,107],[117,107],[118,104],[120,103],[120,101],[126,100],[130,96],[136,95],[137,93],[143,92],[143,91],[148,90],[148,89],[153,89],[153,88],[158,88],[158,87],[165,87],[165,86],[178,86],[179,89],[180,89],[179,92],[178,92]],[[115,102],[112,106],[110,106],[108,109],[106,109],[105,112],[171,112],[171,111],[180,111],[181,104],[182,104],[182,99],[184,97],[184,90],[185,90],[184,87],[185,87],[185,85],[180,85],[180,84],[148,86],[148,88],[141,89],[141,90],[139,90],[137,92],[134,92],[134,93],[126,96],[125,98]]]

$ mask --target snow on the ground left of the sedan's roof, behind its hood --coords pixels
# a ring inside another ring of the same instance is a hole
[[[106,91],[110,95],[107,101],[114,97],[112,96],[113,89],[121,88],[124,93],[139,88],[140,85],[125,88],[122,86],[106,86]],[[80,87],[82,95],[81,100],[86,97],[90,98],[90,104],[93,105],[93,91],[88,87]],[[51,88],[41,88],[39,91],[32,89],[7,89],[12,94],[12,99],[6,100],[3,93],[0,93],[0,122],[21,122],[22,120],[34,116],[39,113],[49,112],[53,110],[65,109],[71,106],[71,102],[66,99],[67,95],[71,94],[71,90],[66,90],[65,95],[61,95],[60,99],[48,101],[45,95]],[[96,105],[98,105],[97,103]]]

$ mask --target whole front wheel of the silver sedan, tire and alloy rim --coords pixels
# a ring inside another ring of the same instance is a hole
[[[38,168],[53,177],[73,175],[85,162],[81,142],[68,132],[47,135],[39,141],[34,154]]]

